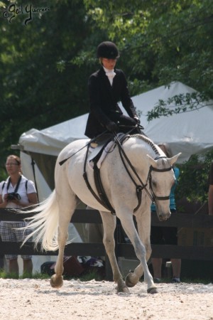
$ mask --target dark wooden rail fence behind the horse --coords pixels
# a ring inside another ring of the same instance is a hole
[[[16,221],[23,220],[30,216],[29,214],[14,213],[9,210],[0,209],[0,221]],[[32,216],[32,215],[31,215]],[[97,210],[81,210],[77,209],[72,216],[72,223],[102,223],[102,218]],[[156,215],[152,215],[151,225],[178,227],[178,228],[212,228],[213,216],[209,215],[193,215],[185,213],[177,213],[163,222],[160,222]],[[115,233],[116,240],[116,257],[135,258],[136,255],[133,246],[128,243],[119,242],[120,222],[117,221]],[[17,242],[0,242],[1,254],[18,254],[18,255],[58,255],[58,251],[41,251],[40,245],[34,248],[34,242],[28,242],[20,247]],[[152,245],[152,257],[162,258],[181,258],[186,260],[213,260],[213,246],[183,246],[183,245]],[[70,243],[65,247],[65,255],[91,255],[106,256],[104,245],[102,243]],[[106,260],[107,278],[111,278],[111,268],[108,259]],[[107,271],[108,270],[108,271]]]

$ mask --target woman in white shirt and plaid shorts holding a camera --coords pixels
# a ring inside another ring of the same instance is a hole
[[[6,159],[6,171],[9,177],[0,183],[0,208],[24,208],[38,203],[33,181],[27,180],[21,173],[21,159],[10,155]],[[26,225],[18,221],[1,221],[0,235],[5,242],[22,242],[31,230],[19,230]],[[18,255],[5,255],[9,260],[9,272],[19,274]],[[22,255],[23,274],[33,271],[32,256]]]

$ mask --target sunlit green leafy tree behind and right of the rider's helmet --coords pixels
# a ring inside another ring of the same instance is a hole
[[[84,2],[119,44],[137,91],[178,80],[199,91],[200,101],[212,99],[211,0]]]

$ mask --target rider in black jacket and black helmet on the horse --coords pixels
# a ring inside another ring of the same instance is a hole
[[[97,47],[97,58],[102,67],[90,75],[89,87],[89,117],[85,135],[89,138],[97,137],[104,131],[138,133],[140,120],[136,114],[129,95],[126,77],[122,70],[116,69],[119,50],[113,42],[104,41]],[[121,101],[129,117],[121,112],[118,102]],[[120,127],[126,126],[126,127]]]

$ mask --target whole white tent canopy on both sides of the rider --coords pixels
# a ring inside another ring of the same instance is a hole
[[[172,82],[132,97],[136,110],[141,114],[144,133],[155,144],[167,143],[173,154],[182,152],[178,162],[187,161],[192,154],[200,154],[213,148],[213,102],[191,112],[173,114],[147,121],[147,113],[159,100],[168,100],[174,95],[195,92],[181,82]],[[175,107],[175,106],[174,106]],[[84,129],[88,114],[67,120],[43,130],[31,129],[21,134],[20,149],[33,156],[50,188],[53,188],[55,157],[62,148],[76,139],[86,139]],[[26,165],[27,166],[27,165]],[[31,164],[29,164],[31,166]]]

